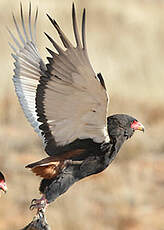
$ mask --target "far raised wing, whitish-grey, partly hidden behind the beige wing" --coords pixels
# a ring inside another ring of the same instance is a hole
[[[29,32],[25,27],[23,10],[21,5],[21,22],[23,33],[21,33],[20,28],[16,22],[13,15],[14,24],[17,30],[18,38],[20,42],[16,39],[13,33],[9,30],[9,33],[16,46],[11,43],[10,46],[14,53],[12,54],[15,59],[15,69],[14,69],[14,86],[15,91],[18,96],[19,102],[22,106],[24,114],[28,121],[33,126],[34,130],[38,133],[40,137],[41,130],[39,126],[40,122],[37,121],[38,116],[36,113],[36,90],[39,84],[40,76],[44,74],[46,66],[44,65],[42,59],[39,56],[38,50],[36,48],[36,21],[37,21],[38,10],[36,10],[34,27],[31,25],[31,4],[29,6],[29,21],[28,27]]]

